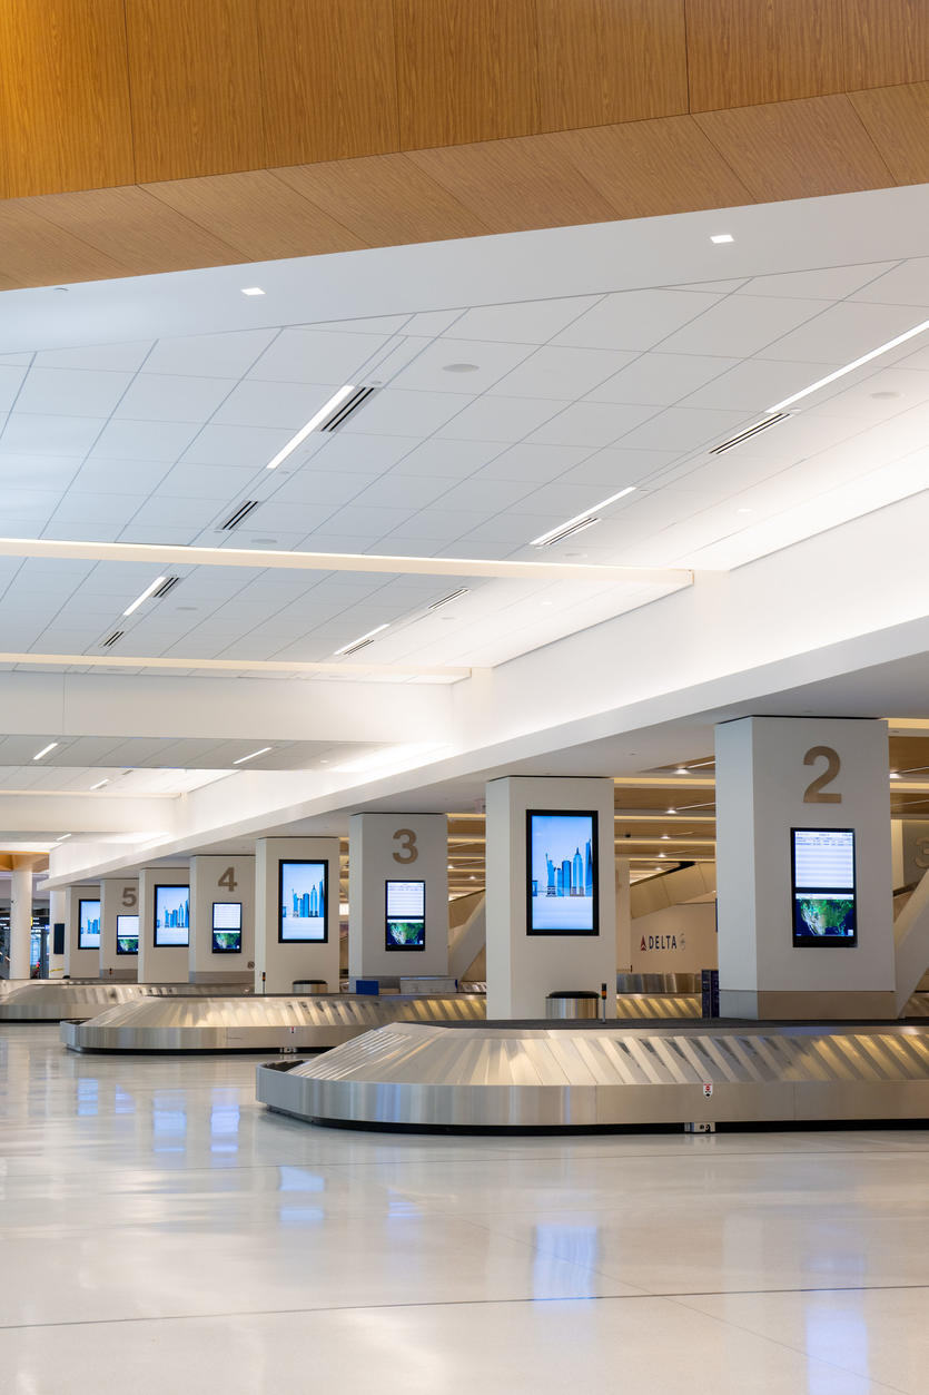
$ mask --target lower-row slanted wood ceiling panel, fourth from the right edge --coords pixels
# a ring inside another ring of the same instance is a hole
[[[612,204],[591,188],[548,137],[410,151],[407,159],[494,233],[600,223],[617,216]]]

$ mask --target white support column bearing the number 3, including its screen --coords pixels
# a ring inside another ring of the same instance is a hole
[[[388,930],[388,883],[395,910],[405,894],[414,905],[423,883],[424,933],[407,932],[409,946]],[[448,819],[356,813],[349,820],[349,976],[417,975],[448,975]]]

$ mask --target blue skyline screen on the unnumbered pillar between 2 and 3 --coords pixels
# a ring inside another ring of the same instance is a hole
[[[598,935],[597,813],[526,813],[527,935]]]

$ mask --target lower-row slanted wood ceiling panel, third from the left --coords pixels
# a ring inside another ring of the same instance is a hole
[[[338,166],[336,166],[338,167]],[[251,261],[312,257],[370,246],[269,170],[145,186],[146,193]]]

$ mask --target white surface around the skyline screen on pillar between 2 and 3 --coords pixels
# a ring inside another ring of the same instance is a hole
[[[526,933],[526,810],[596,809],[600,933]],[[487,785],[487,1016],[545,1016],[558,989],[600,992],[615,1017],[617,891],[612,780],[505,777]]]

